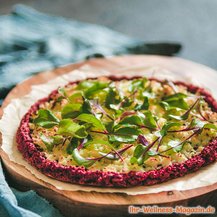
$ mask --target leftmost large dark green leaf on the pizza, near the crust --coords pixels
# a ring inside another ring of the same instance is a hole
[[[36,125],[44,128],[52,128],[59,124],[59,119],[48,109],[40,109],[38,116],[33,121]]]

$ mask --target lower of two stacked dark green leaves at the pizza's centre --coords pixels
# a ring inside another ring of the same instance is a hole
[[[110,142],[134,142],[136,141],[138,135],[141,133],[140,130],[131,128],[131,127],[123,127],[116,130],[112,135],[109,135]]]

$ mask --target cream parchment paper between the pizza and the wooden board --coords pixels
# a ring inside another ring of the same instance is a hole
[[[54,80],[42,85],[36,85],[32,87],[32,91],[30,94],[24,96],[20,99],[12,100],[12,102],[4,109],[4,114],[2,119],[0,120],[0,130],[2,132],[3,144],[2,149],[8,154],[11,161],[14,161],[17,164],[23,165],[29,170],[34,176],[38,179],[49,183],[55,186],[60,190],[69,190],[69,191],[96,191],[96,192],[119,192],[126,193],[128,195],[137,195],[137,194],[148,194],[148,193],[157,193],[162,191],[171,191],[171,190],[189,190],[193,188],[203,187],[207,185],[211,185],[217,182],[217,163],[206,166],[205,168],[200,169],[198,172],[194,172],[192,174],[186,175],[181,178],[176,178],[174,180],[154,185],[154,186],[142,186],[142,187],[132,187],[132,188],[100,188],[100,187],[89,187],[89,186],[81,186],[74,185],[69,183],[64,183],[61,181],[57,181],[51,179],[34,167],[29,165],[22,157],[20,152],[17,150],[16,143],[14,142],[14,136],[16,134],[17,128],[19,126],[20,120],[23,115],[28,111],[29,107],[35,103],[38,99],[47,96],[52,90],[56,89],[59,86],[63,86],[67,84],[69,81],[75,81],[80,79],[85,79],[88,77],[97,77],[103,75],[114,75],[114,72],[102,71],[98,69],[91,68],[88,65],[83,66],[79,70],[74,70],[69,74],[57,77]],[[171,80],[182,80],[185,82],[194,83],[200,86],[204,86],[209,88],[217,98],[217,91],[215,90],[215,86],[213,84],[213,79],[217,81],[217,74],[213,72],[212,82],[209,82],[209,78],[204,80],[203,77],[198,76],[198,74],[190,74],[184,72],[170,72],[166,69],[162,69],[159,67],[144,67],[144,66],[136,66],[133,68],[123,68],[119,69],[119,71],[115,72],[117,76],[128,75],[146,75],[148,77],[154,76],[157,78],[168,78]],[[207,75],[208,76],[208,75]]]

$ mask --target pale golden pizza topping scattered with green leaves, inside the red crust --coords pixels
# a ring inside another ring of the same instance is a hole
[[[89,79],[59,88],[32,114],[31,136],[50,160],[105,171],[148,171],[200,153],[217,114],[183,85],[147,78]]]

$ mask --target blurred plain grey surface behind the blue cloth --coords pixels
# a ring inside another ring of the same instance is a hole
[[[0,14],[16,3],[147,42],[180,42],[179,56],[217,69],[217,0],[0,0]]]

